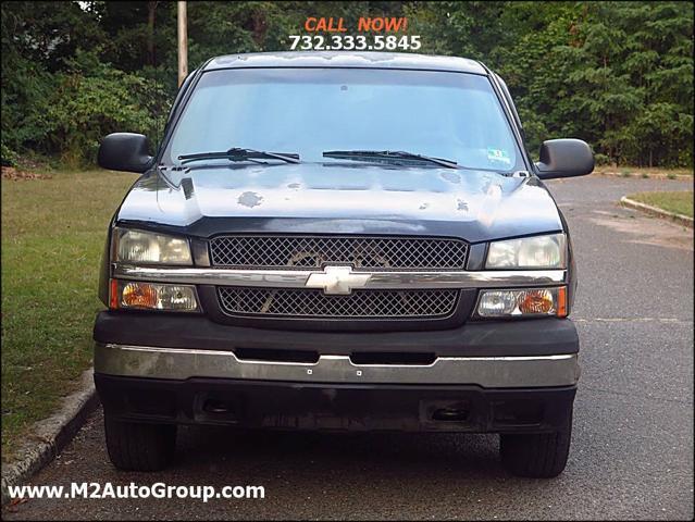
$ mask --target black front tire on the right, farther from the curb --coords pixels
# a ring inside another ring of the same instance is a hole
[[[564,470],[570,453],[572,411],[566,424],[553,433],[502,434],[499,438],[502,465],[519,476],[551,478]]]

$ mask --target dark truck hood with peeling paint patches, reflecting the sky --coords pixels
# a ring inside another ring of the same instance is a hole
[[[157,169],[132,187],[116,223],[201,237],[333,232],[471,243],[562,229],[536,177],[358,163]]]

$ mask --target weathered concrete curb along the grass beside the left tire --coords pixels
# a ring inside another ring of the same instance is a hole
[[[52,461],[73,439],[89,414],[99,406],[95,389],[94,369],[85,370],[77,391],[63,399],[57,413],[39,421],[28,440],[11,463],[2,464],[2,505],[10,500],[9,486],[22,485]]]

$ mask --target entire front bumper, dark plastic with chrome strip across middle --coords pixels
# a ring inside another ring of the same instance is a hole
[[[95,340],[104,411],[137,422],[538,433],[564,425],[580,375],[576,331],[557,319],[326,333],[102,312]],[[313,352],[315,360],[255,359],[258,350]],[[432,360],[358,357],[375,351]]]

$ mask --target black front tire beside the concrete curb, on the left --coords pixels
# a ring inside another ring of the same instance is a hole
[[[176,448],[176,425],[122,422],[103,415],[107,449],[113,465],[124,471],[166,468]]]

